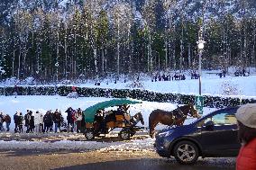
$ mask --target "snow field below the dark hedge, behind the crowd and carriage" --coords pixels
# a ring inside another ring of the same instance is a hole
[[[55,111],[56,109],[61,111],[64,118],[67,117],[67,112],[65,112],[69,107],[73,109],[81,108],[85,110],[87,107],[103,102],[106,100],[111,100],[111,98],[104,97],[79,97],[78,99],[67,98],[63,96],[0,96],[0,112],[4,114],[9,114],[12,118],[16,111],[23,112],[23,115],[27,110],[32,112],[42,112],[43,114],[49,110]],[[172,111],[177,108],[176,103],[154,103],[145,102],[139,104],[133,104],[130,107],[131,115],[136,112],[142,112],[145,125],[148,127],[148,118],[150,113],[155,109],[162,109],[166,111]],[[109,108],[114,109],[114,108]],[[117,109],[117,108],[116,108]],[[213,111],[215,109],[205,108],[205,114]],[[142,124],[138,124],[142,126]],[[14,128],[14,122],[11,123],[11,127]]]

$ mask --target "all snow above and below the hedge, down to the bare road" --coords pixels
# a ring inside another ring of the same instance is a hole
[[[101,85],[96,86],[93,83],[81,84],[79,86],[87,87],[103,87],[103,88],[127,88],[131,82],[122,83],[121,80],[114,84],[114,82],[109,81],[102,82]],[[142,80],[144,89],[163,92],[163,93],[180,93],[180,94],[198,94],[198,80],[190,79],[187,77],[187,80],[182,81],[169,81],[169,82],[151,82],[149,79]],[[231,89],[233,92],[231,92]],[[242,97],[253,97],[256,98],[256,76],[226,76],[225,78],[219,78],[215,75],[204,74],[202,78],[202,90],[203,94],[224,94],[227,93],[227,90],[230,90],[230,94],[236,94]],[[26,110],[31,110],[32,112],[40,111],[45,113],[49,110],[55,111],[56,109],[62,112],[64,118],[66,118],[67,113],[65,112],[69,106],[73,109],[81,108],[85,110],[87,107],[103,102],[105,100],[111,100],[111,98],[104,97],[79,97],[78,99],[67,98],[59,95],[55,96],[0,96],[0,112],[8,113],[13,119],[15,112],[26,112]],[[140,104],[133,104],[130,107],[130,113],[133,115],[136,112],[142,112],[145,127],[148,127],[148,118],[150,113],[155,109],[162,109],[166,111],[172,111],[177,108],[177,103],[154,103],[142,101]],[[111,108],[113,109],[113,108]],[[204,114],[213,112],[213,108],[204,108]],[[194,121],[193,119],[188,119],[185,123]],[[142,124],[138,124],[142,126]],[[160,130],[166,126],[158,126],[157,129]],[[11,133],[5,135],[12,136],[12,131],[14,130],[14,122],[11,123]],[[32,135],[32,134],[28,134]],[[54,135],[57,134],[48,134],[49,138],[52,135],[52,138],[55,138]],[[72,135],[72,134],[70,134]],[[68,136],[70,136],[68,135]],[[65,136],[65,135],[64,135]],[[0,135],[0,139],[1,139]],[[142,148],[140,146],[146,146],[147,149],[152,148],[154,139],[132,139],[129,142],[123,141],[113,141],[113,142],[96,142],[96,141],[71,141],[66,137],[54,142],[45,142],[45,141],[16,141],[14,140],[0,140],[0,149],[5,148],[50,148],[50,149],[123,149],[126,147],[130,148]],[[2,146],[2,147],[1,147]],[[138,147],[139,146],[139,147]]]

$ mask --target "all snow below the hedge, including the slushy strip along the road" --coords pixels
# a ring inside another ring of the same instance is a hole
[[[40,111],[45,113],[48,110],[59,109],[64,118],[67,113],[65,112],[69,106],[74,109],[78,107],[82,110],[87,107],[110,100],[109,98],[94,98],[94,97],[80,97],[78,99],[69,99],[61,96],[0,96],[0,111],[8,113],[13,118],[14,112],[26,112],[27,109]],[[130,113],[133,115],[136,112],[142,112],[145,127],[148,127],[148,118],[151,111],[155,109],[163,109],[171,111],[177,107],[177,104],[173,103],[152,103],[142,102],[140,104],[133,104],[130,107]],[[204,114],[214,111],[215,109],[204,109]],[[189,119],[186,123],[193,121]],[[142,126],[142,124],[138,124]],[[166,126],[158,126],[158,129],[165,128]],[[91,150],[91,149],[110,149],[110,150],[123,150],[125,148],[131,149],[153,149],[154,139],[150,139],[149,136],[142,138],[147,133],[135,137],[130,141],[118,141],[116,139],[87,141],[84,136],[80,134],[72,133],[60,133],[60,134],[14,134],[14,122],[11,123],[11,133],[0,133],[0,150],[3,149],[50,149],[50,150]]]

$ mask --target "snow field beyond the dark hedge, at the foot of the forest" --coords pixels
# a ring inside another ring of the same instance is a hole
[[[86,84],[78,86],[99,87],[99,88],[129,88],[133,82],[123,83],[120,79],[114,84],[114,81],[104,80],[101,85],[94,85],[95,82],[88,81]],[[160,92],[160,93],[177,93],[177,94],[198,94],[199,81],[187,76],[186,80],[179,81],[157,81],[153,82],[148,77],[141,77],[142,89]],[[237,97],[256,98],[256,76],[225,76],[220,78],[215,74],[204,72],[202,75],[202,94],[210,95],[235,95]]]

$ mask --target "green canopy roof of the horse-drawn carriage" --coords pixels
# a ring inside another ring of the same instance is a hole
[[[105,109],[105,108],[113,107],[113,106],[117,106],[117,105],[135,104],[135,103],[142,103],[142,101],[135,100],[135,99],[129,99],[129,98],[113,99],[113,100],[105,101],[102,103],[96,103],[95,105],[88,107],[83,112],[83,114],[85,115],[86,122],[94,122],[95,114],[96,114],[97,110]]]

